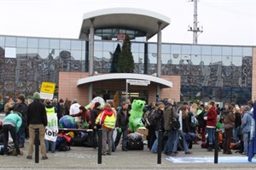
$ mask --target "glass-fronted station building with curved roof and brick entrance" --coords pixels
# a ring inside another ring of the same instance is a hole
[[[27,98],[55,82],[59,99],[94,95],[245,104],[256,97],[256,47],[162,42],[171,19],[137,8],[84,14],[78,39],[0,35],[0,95]],[[18,33],[18,32],[17,32]],[[134,73],[110,73],[115,48],[131,38]],[[148,42],[157,35],[157,42]],[[132,83],[133,82],[133,83]]]

